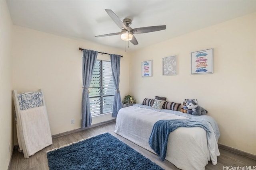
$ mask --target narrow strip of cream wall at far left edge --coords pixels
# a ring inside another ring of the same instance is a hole
[[[13,149],[11,63],[12,20],[6,1],[0,1],[0,11],[0,169],[6,170]]]

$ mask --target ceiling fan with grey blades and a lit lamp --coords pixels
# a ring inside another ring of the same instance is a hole
[[[118,33],[110,33],[110,34],[104,34],[104,35],[98,35],[95,37],[106,37],[110,35],[120,35],[121,39],[124,41],[130,41],[134,45],[138,45],[137,39],[134,37],[134,34],[140,34],[140,33],[149,33],[154,31],[161,31],[166,29],[166,25],[158,25],[158,26],[150,26],[150,27],[140,27],[140,28],[131,28],[130,25],[132,24],[132,20],[129,18],[125,18],[123,21],[121,21],[118,16],[112,11],[112,10],[105,10],[108,15],[112,18],[112,20],[118,25],[118,27],[121,30],[121,32]]]

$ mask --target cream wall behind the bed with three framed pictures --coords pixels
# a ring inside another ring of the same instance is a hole
[[[167,28],[168,29],[168,28]],[[191,75],[191,52],[214,49],[214,73]],[[162,58],[177,55],[178,74],[162,76]],[[132,53],[130,93],[182,103],[196,98],[219,125],[219,143],[256,154],[256,13],[182,35]],[[153,76],[141,62],[153,60]]]

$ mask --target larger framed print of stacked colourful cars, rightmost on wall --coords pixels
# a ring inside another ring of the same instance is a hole
[[[213,73],[213,49],[191,53],[191,74]]]

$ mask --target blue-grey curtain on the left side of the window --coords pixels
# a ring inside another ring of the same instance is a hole
[[[82,94],[82,128],[89,127],[92,124],[92,115],[90,111],[90,98],[88,90],[92,80],[92,73],[96,63],[98,51],[83,50],[83,94]]]

